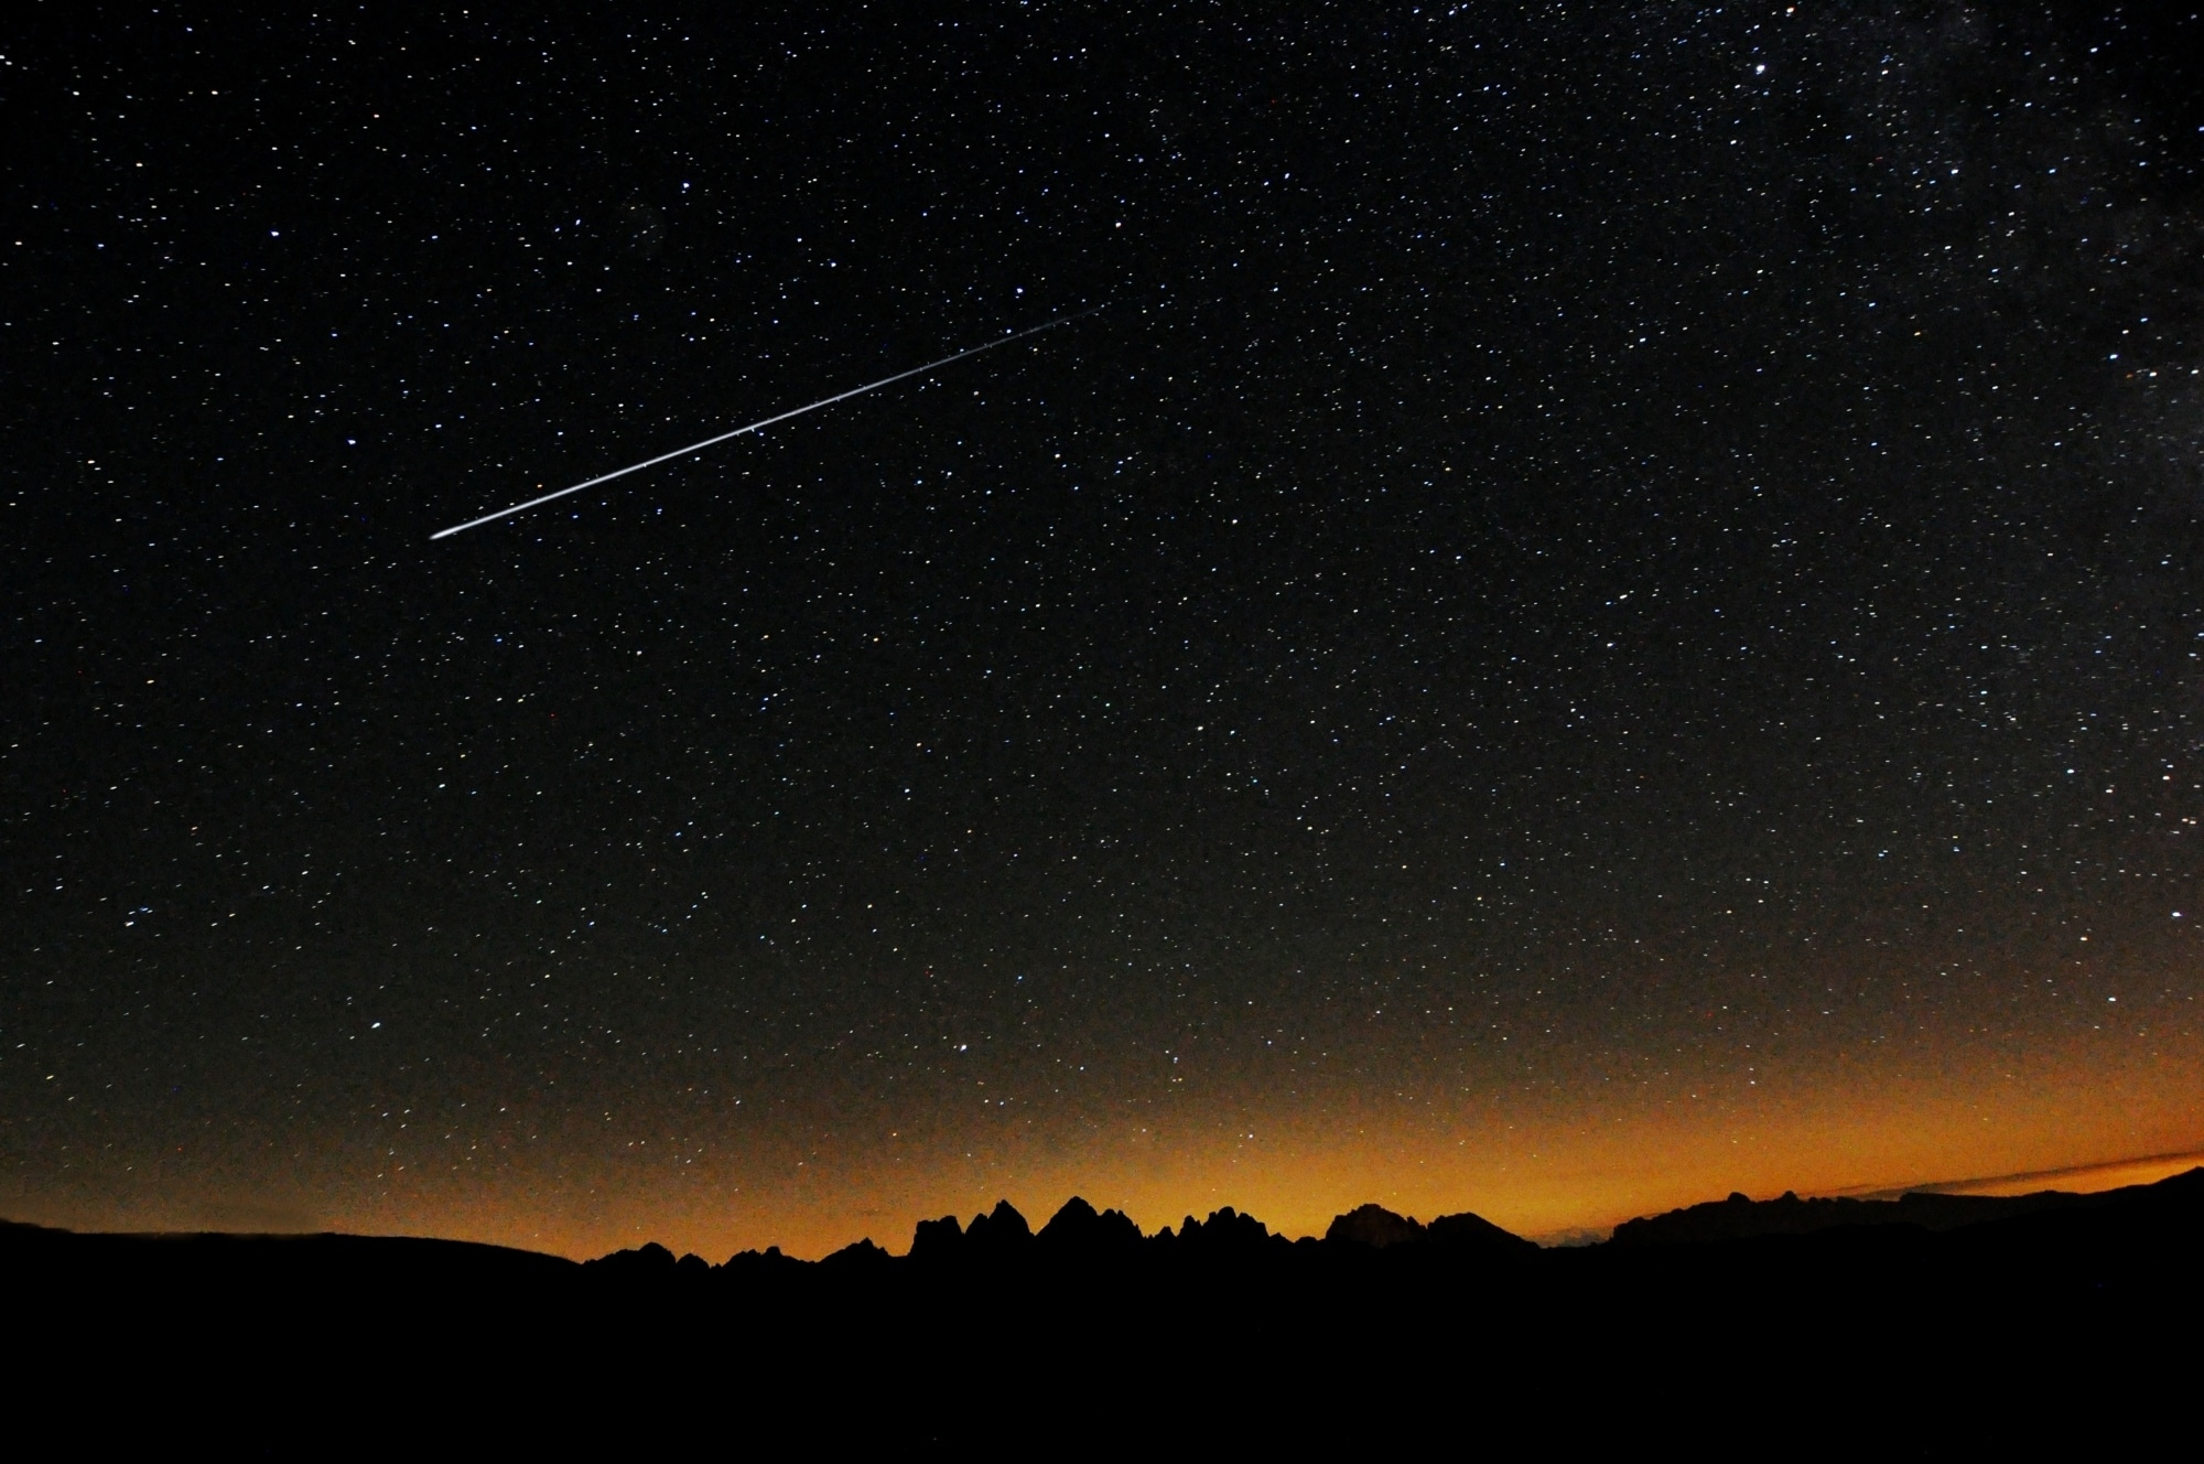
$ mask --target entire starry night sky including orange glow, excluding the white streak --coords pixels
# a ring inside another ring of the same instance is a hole
[[[2191,9],[18,20],[0,1215],[2204,1147]]]

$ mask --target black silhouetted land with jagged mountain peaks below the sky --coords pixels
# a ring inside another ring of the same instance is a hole
[[[73,1453],[2189,1453],[2200,1241],[2204,1171],[1732,1197],[1582,1250],[1375,1206],[1320,1241],[996,1206],[723,1266],[0,1226],[4,1404]]]

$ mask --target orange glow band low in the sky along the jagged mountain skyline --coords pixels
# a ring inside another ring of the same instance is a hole
[[[494,1177],[388,1175],[383,1193],[152,1195],[130,1206],[15,1195],[0,1213],[101,1230],[346,1230],[439,1235],[575,1259],[644,1241],[723,1261],[780,1246],[815,1259],[857,1239],[904,1252],[919,1219],[970,1219],[1009,1199],[1038,1228],[1071,1195],[1126,1210],[1146,1232],[1232,1206],[1289,1235],[1375,1202],[1430,1219],[1474,1210],[1543,1241],[1589,1239],[1635,1217],[1721,1199],[1904,1188],[2025,1193],[2142,1184],[2204,1162],[2204,1063],[2153,1052],[2125,1065],[1995,1063],[1966,1083],[1843,1065],[1761,1083],[1682,1080],[1609,1100],[1378,1107],[1349,1096],[1265,1116],[1212,1098],[1203,1118],[1153,1113],[1089,1129],[937,1133],[923,1147],[849,1135],[793,1164],[727,1158],[514,1153]],[[2067,1076],[2076,1067],[2085,1078]],[[1223,1113],[1219,1118],[1217,1113]],[[2136,1158],[2142,1155],[2142,1158]],[[754,1158],[754,1155],[752,1155]],[[342,1169],[324,1155],[313,1169]],[[1948,1175],[1981,1175],[1951,1180]],[[487,1180],[487,1182],[485,1182]]]

